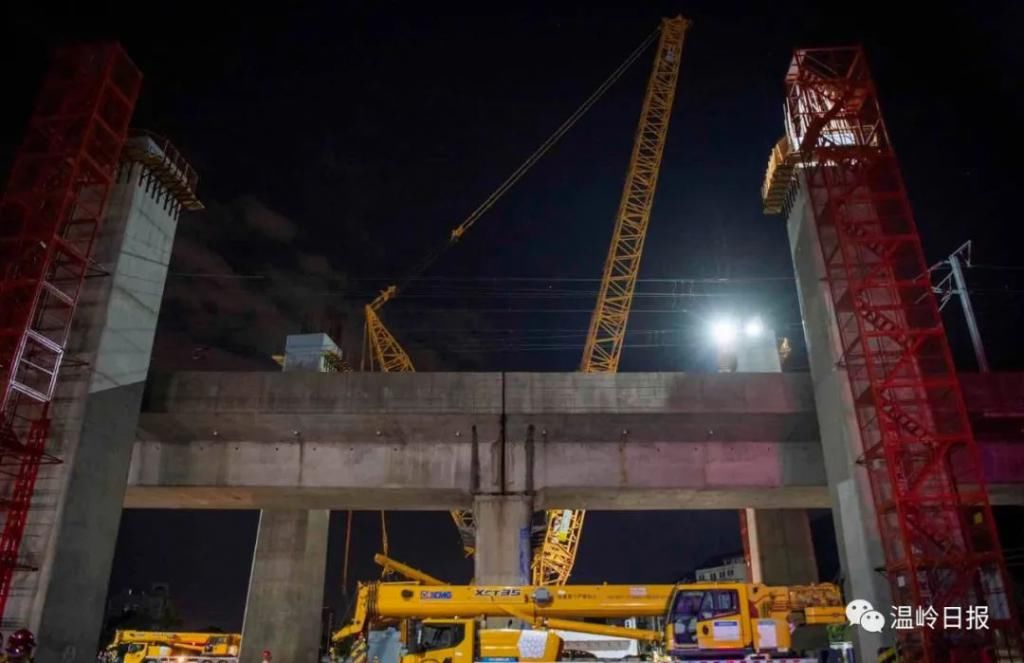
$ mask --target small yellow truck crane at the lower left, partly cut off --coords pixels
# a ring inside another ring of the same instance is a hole
[[[119,630],[101,663],[239,663],[240,633]]]

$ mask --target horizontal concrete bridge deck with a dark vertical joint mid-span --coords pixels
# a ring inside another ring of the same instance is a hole
[[[1024,379],[964,376],[992,501],[1024,504]],[[829,506],[799,373],[212,373],[151,381],[127,507]]]

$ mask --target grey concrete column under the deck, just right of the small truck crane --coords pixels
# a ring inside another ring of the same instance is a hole
[[[241,663],[316,661],[331,512],[263,509],[242,623]]]

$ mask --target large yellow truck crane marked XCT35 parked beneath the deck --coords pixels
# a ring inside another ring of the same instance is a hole
[[[827,647],[825,627],[846,621],[840,590],[830,584],[549,587],[377,582],[359,586],[352,621],[338,630],[333,640],[340,644],[393,626],[401,633],[401,643],[409,653],[401,657],[396,654],[394,660],[378,655],[380,663],[445,663],[447,659],[451,659],[447,663],[469,663],[496,658],[550,660],[527,659],[510,651],[513,648],[506,648],[503,654],[492,652],[489,656],[482,649],[474,649],[475,643],[519,637],[514,635],[519,632],[514,629],[492,631],[477,624],[478,620],[503,617],[535,629],[571,630],[651,643],[674,660],[699,660],[710,655],[716,660],[742,660],[760,655],[784,661],[817,661],[819,653]],[[629,617],[658,617],[665,626],[654,630],[584,621]],[[422,635],[424,628],[429,628],[429,639]],[[438,637],[441,631],[446,634]],[[445,647],[427,647],[437,641]]]

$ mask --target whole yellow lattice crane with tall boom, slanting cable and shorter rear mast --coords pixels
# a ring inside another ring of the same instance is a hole
[[[640,121],[634,138],[623,189],[622,201],[615,215],[611,246],[604,264],[604,276],[598,292],[597,305],[591,318],[590,331],[584,349],[581,370],[585,373],[614,373],[623,351],[626,325],[629,320],[633,293],[636,289],[640,258],[643,253],[647,224],[650,219],[654,188],[665,152],[669,132],[669,119],[676,95],[679,61],[683,38],[690,22],[683,16],[662,19],[658,30],[654,65],[647,82],[647,91],[640,112]],[[653,40],[651,35],[624,61],[611,76],[581,106],[575,113],[549,137],[530,157],[462,223],[456,226],[449,240],[455,244],[469,227],[486,212],[548,150],[575,124],[601,95],[639,57]],[[415,371],[412,359],[401,344],[381,321],[378,312],[398,293],[394,285],[388,286],[366,305],[364,328],[362,367],[383,372]],[[541,545],[535,550],[530,574],[535,585],[565,584],[575,564],[577,549],[583,531],[585,511],[579,509],[549,510],[547,528]],[[468,554],[473,552],[474,523],[472,511],[452,511],[452,517]]]

